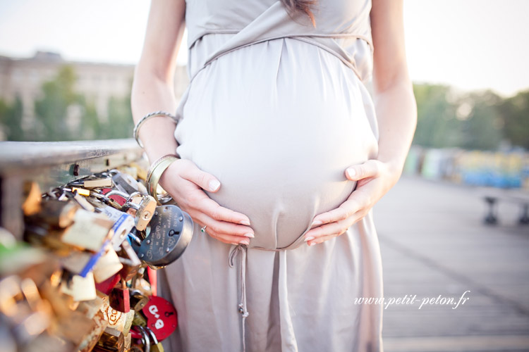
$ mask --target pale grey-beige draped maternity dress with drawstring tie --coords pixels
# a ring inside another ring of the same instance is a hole
[[[248,215],[255,238],[224,244],[194,225],[159,270],[178,312],[166,351],[382,351],[382,261],[372,211],[322,244],[315,215],[355,189],[344,170],[377,156],[370,1],[188,0],[190,84],[177,153],[221,182],[206,192]]]

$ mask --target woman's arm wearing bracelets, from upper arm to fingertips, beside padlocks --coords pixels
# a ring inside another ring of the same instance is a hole
[[[185,17],[185,0],[151,1],[145,42],[130,97],[135,122],[154,111],[176,111],[173,81]],[[139,137],[151,163],[160,156],[176,153],[178,143],[174,130],[174,122],[167,118],[152,118],[142,125]],[[248,244],[248,237],[253,237],[248,216],[221,207],[207,196],[203,189],[216,192],[221,184],[192,161],[181,159],[172,163],[159,184],[194,222],[207,225],[209,236],[233,244]]]

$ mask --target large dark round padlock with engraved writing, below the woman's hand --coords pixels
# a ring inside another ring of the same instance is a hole
[[[193,236],[193,220],[178,206],[158,206],[150,221],[150,233],[132,247],[138,257],[154,268],[178,259]]]

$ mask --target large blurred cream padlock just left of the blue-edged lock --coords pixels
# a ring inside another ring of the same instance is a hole
[[[90,251],[99,251],[104,241],[114,235],[114,222],[106,215],[79,209],[75,212],[73,225],[61,237],[66,244]]]

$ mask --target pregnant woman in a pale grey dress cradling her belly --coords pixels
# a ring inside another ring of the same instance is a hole
[[[382,351],[372,206],[401,175],[416,111],[397,0],[155,0],[135,121],[195,222],[159,270],[169,351]],[[174,67],[188,28],[190,84]],[[365,84],[372,79],[371,98]]]

